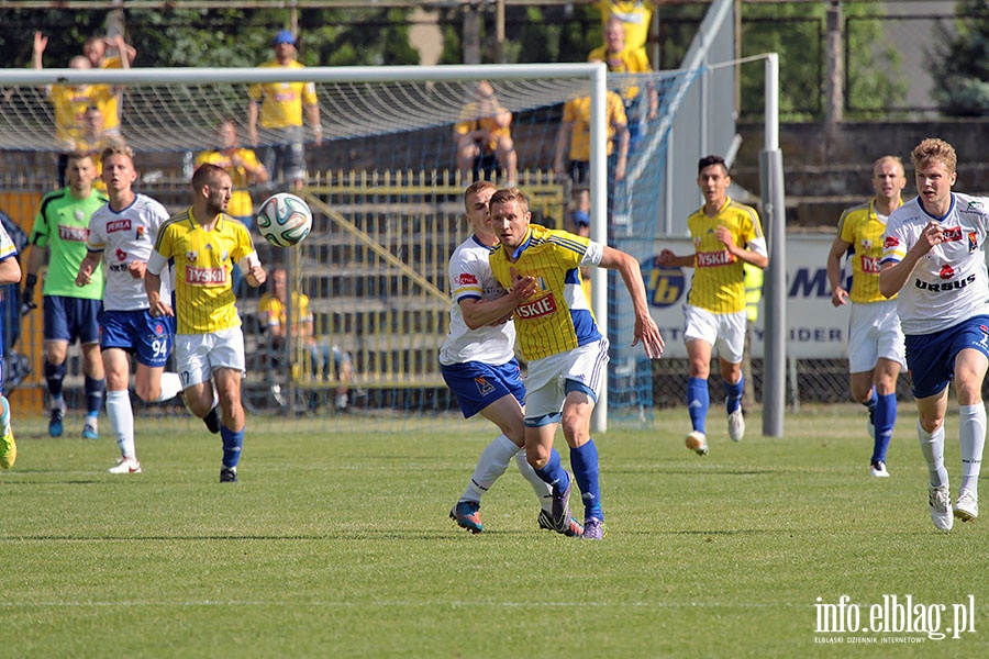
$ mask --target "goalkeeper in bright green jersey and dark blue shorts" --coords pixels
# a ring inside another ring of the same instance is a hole
[[[93,272],[85,287],[76,286],[76,275],[86,258],[89,219],[104,203],[107,197],[92,187],[92,158],[73,154],[67,164],[68,187],[42,198],[34,228],[31,250],[24,266],[26,273],[21,301],[32,309],[37,272],[49,254],[44,282],[45,380],[48,386],[51,420],[48,434],[60,437],[65,417],[63,380],[69,344],[82,345],[82,367],[86,373],[86,422],[82,436],[99,437],[99,414],[103,404],[103,362],[100,358],[100,323],[103,298],[103,273]]]

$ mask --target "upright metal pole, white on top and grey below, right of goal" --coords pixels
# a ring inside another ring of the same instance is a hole
[[[763,222],[768,237],[766,342],[763,381],[763,435],[782,437],[787,391],[786,200],[779,150],[779,56],[766,59],[766,144],[759,154]]]

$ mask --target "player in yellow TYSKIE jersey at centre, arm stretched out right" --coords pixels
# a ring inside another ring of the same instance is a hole
[[[505,290],[519,279],[537,282],[535,292],[515,306],[518,345],[529,362],[525,380],[525,455],[553,487],[552,522],[565,532],[570,521],[570,474],[553,450],[563,424],[570,466],[584,498],[584,537],[604,537],[598,480],[598,449],[590,437],[590,415],[607,377],[608,338],[602,336],[584,293],[581,267],[615,269],[635,312],[632,345],[642,342],[649,358],[663,354],[663,337],[649,315],[642,270],[629,254],[566,231],[531,224],[529,200],[518,189],[499,190],[490,203],[491,226],[500,244],[489,261]]]

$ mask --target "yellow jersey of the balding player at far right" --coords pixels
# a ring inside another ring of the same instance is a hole
[[[838,220],[838,236],[852,245],[852,290],[848,299],[858,304],[881,302],[879,292],[879,261],[886,220],[876,213],[876,200],[846,209]]]

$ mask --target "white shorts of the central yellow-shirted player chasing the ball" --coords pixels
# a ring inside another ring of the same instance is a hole
[[[525,377],[525,418],[559,414],[567,398],[567,380],[593,391],[597,402],[608,375],[607,364],[607,338],[530,361]]]

